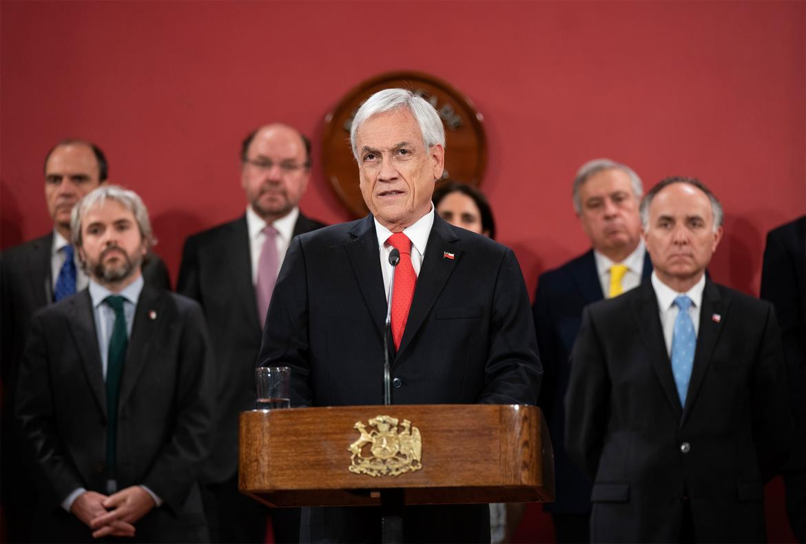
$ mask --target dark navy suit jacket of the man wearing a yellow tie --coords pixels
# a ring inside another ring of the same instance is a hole
[[[642,281],[652,274],[652,261],[644,255]],[[546,415],[555,452],[555,502],[544,506],[551,513],[589,513],[591,483],[571,463],[565,451],[565,407],[563,398],[571,376],[571,348],[580,330],[582,310],[605,297],[593,250],[544,272],[534,295],[534,326],[538,336],[543,384],[538,405]]]

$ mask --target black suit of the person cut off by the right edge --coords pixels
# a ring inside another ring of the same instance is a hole
[[[761,297],[775,305],[787,359],[789,394],[795,438],[784,467],[787,513],[792,531],[806,540],[806,216],[779,226],[767,235]]]

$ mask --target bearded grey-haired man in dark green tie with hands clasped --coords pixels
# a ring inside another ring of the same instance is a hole
[[[143,201],[116,185],[73,208],[89,286],[31,322],[16,415],[41,482],[31,540],[209,539],[197,475],[212,351],[196,302],[143,282]]]

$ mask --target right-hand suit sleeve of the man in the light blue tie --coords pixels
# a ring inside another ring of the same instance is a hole
[[[775,310],[767,307],[752,392],[754,442],[765,479],[775,475],[787,460],[792,430],[778,322]]]

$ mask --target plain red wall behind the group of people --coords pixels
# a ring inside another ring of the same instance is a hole
[[[0,247],[50,228],[44,154],[83,137],[147,202],[175,280],[186,235],[243,213],[247,131],[285,121],[318,156],[348,89],[415,69],[484,114],[482,188],[530,292],[588,247],[571,178],[609,156],[647,186],[671,174],[710,185],[726,210],[713,277],[758,293],[767,230],[806,211],[804,6],[3,0]],[[319,164],[302,208],[347,220]]]

